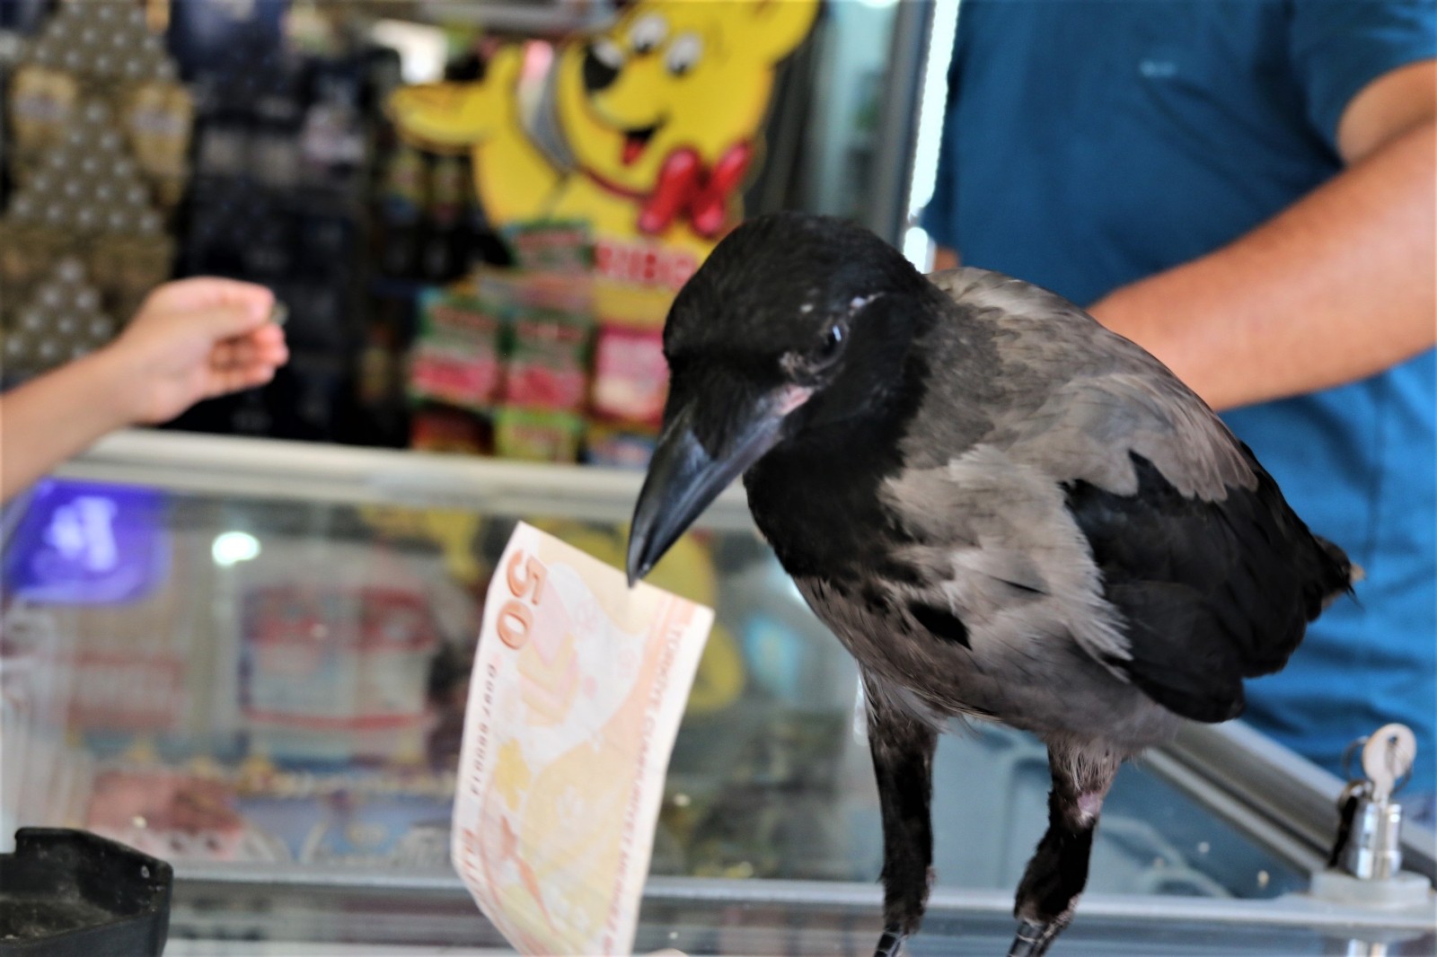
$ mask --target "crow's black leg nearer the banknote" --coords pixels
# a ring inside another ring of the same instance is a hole
[[[884,816],[884,934],[875,957],[895,957],[904,940],[918,930],[933,884],[928,805],[938,731],[874,681],[865,678],[864,690],[868,749]]]

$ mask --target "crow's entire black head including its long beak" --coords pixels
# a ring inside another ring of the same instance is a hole
[[[895,249],[842,220],[780,213],[730,233],[664,328],[670,394],[629,533],[629,578],[775,445],[881,411],[915,323],[938,300]]]

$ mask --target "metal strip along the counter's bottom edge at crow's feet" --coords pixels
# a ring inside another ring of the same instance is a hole
[[[868,884],[651,878],[635,953],[868,954],[881,889]],[[935,888],[915,954],[1002,954],[1012,895]],[[451,874],[339,869],[178,868],[171,937],[504,948]],[[1142,954],[1437,953],[1433,920],[1334,907],[1299,895],[1272,901],[1085,897],[1055,957]]]

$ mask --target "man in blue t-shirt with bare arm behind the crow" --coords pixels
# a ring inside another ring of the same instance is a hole
[[[1387,721],[1437,792],[1437,4],[964,0],[938,269],[1046,286],[1224,414],[1367,572],[1247,720],[1341,770]]]

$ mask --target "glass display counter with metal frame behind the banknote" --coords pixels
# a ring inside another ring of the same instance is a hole
[[[4,833],[80,826],[174,864],[172,953],[502,947],[447,865],[490,566],[519,519],[619,563],[639,481],[174,433],[102,441],[0,527]],[[638,948],[868,953],[879,815],[851,660],[740,489],[652,581],[713,605],[717,627]],[[1242,724],[1191,727],[1119,775],[1053,953],[1437,953],[1430,897],[1308,894],[1341,787]],[[912,953],[1003,953],[1046,790],[1035,740],[943,739],[937,884]],[[1431,879],[1433,833],[1407,826],[1404,856]]]

